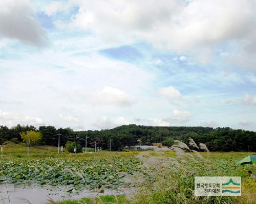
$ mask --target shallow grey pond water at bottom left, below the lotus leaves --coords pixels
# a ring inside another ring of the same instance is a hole
[[[79,199],[83,197],[95,197],[100,195],[121,195],[126,194],[127,189],[123,191],[108,190],[103,192],[91,191],[88,189],[76,192],[72,186],[50,186],[35,184],[0,184],[0,204],[22,204],[31,202],[33,204],[46,203],[50,197],[55,201],[67,199]],[[10,199],[10,202],[9,202]],[[28,201],[27,201],[27,200]]]

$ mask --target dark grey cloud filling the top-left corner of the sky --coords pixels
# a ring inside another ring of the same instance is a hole
[[[26,44],[45,45],[46,32],[34,17],[29,0],[0,1],[0,39],[16,39]]]

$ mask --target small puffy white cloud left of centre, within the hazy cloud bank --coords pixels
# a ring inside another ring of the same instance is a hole
[[[97,90],[93,94],[95,103],[114,105],[119,107],[129,107],[134,103],[130,95],[124,93],[120,89],[105,86],[101,90]]]

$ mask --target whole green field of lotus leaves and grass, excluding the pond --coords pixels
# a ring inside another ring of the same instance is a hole
[[[77,191],[126,187],[126,196],[101,196],[69,203],[255,203],[256,183],[248,179],[255,164],[238,166],[247,152],[155,151],[92,152],[56,155],[56,147],[5,147],[0,160],[2,182],[73,186]],[[255,152],[249,152],[255,155]],[[242,196],[194,196],[194,176],[242,176]],[[49,202],[55,203],[54,200]],[[1,201],[0,201],[1,203]]]

